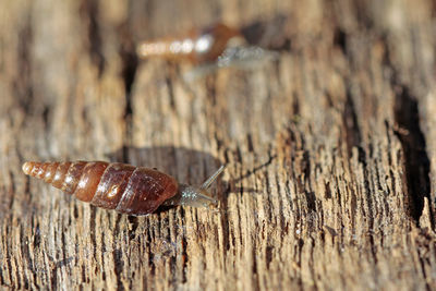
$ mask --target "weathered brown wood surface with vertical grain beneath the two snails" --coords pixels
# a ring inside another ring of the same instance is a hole
[[[435,289],[435,13],[425,0],[1,0],[0,287]],[[189,83],[189,64],[133,53],[215,21],[280,58]],[[220,207],[128,217],[21,172],[65,159],[190,184],[226,163]]]

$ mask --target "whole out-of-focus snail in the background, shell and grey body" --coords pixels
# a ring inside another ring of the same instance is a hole
[[[136,53],[141,59],[156,57],[196,64],[197,68],[185,75],[187,80],[210,73],[217,68],[252,69],[262,61],[278,58],[276,51],[249,45],[239,29],[222,23],[205,29],[193,29],[182,37],[143,41],[137,46]]]

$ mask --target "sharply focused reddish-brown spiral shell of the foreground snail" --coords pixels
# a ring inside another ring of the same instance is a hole
[[[129,215],[150,214],[179,191],[168,174],[120,162],[27,161],[23,171],[77,199]]]

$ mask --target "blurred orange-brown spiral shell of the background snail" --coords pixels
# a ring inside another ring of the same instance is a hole
[[[226,49],[229,39],[240,36],[237,29],[216,24],[203,31],[191,31],[184,37],[168,37],[140,44],[141,58],[161,57],[189,60],[194,63],[215,61]]]

